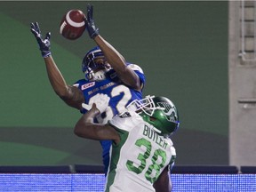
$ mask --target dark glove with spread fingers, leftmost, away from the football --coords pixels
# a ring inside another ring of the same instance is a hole
[[[31,26],[30,30],[36,37],[36,41],[39,44],[39,48],[41,50],[42,56],[44,58],[49,57],[51,55],[51,52],[50,52],[51,33],[48,32],[45,36],[45,39],[43,39],[38,23],[37,22],[31,23],[30,26]]]

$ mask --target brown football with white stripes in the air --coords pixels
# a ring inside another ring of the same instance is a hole
[[[70,10],[60,22],[60,34],[69,40],[75,40],[83,35],[85,30],[84,12]]]

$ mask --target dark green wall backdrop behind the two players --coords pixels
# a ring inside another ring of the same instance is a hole
[[[30,22],[52,32],[68,84],[95,43],[60,36],[62,16],[94,5],[100,35],[147,76],[144,96],[179,109],[176,164],[228,164],[228,1],[0,2],[0,164],[101,164],[98,141],[73,134],[81,116],[52,91]]]

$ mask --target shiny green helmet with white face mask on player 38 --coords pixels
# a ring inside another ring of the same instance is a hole
[[[165,97],[147,96],[143,100],[132,101],[130,106],[134,104],[143,120],[152,124],[158,134],[170,137],[179,128],[178,111],[171,100]]]

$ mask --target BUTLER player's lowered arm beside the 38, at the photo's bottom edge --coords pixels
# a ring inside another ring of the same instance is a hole
[[[154,188],[156,192],[170,192],[172,191],[172,180],[170,179],[169,166],[164,168],[164,171],[161,172],[160,176],[154,183]]]

